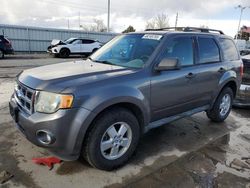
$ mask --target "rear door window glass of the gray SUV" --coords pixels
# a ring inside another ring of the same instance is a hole
[[[219,48],[211,38],[198,38],[199,63],[211,63],[220,61]]]

